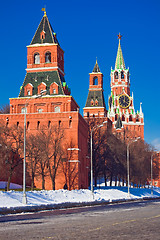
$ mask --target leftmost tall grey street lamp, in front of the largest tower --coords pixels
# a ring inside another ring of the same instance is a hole
[[[26,110],[27,110],[27,104],[35,98],[40,98],[43,96],[43,93],[45,93],[47,90],[42,90],[39,95],[32,96],[28,101],[25,102],[24,107],[24,160],[23,160],[23,197],[22,197],[22,203],[27,204],[27,196],[26,196]]]

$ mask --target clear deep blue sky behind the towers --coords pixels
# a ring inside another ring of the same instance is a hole
[[[17,97],[25,77],[26,46],[47,16],[65,51],[65,78],[72,96],[85,106],[89,73],[96,57],[104,74],[106,105],[110,69],[122,34],[122,52],[131,74],[135,110],[142,110],[145,140],[160,148],[160,1],[159,0],[27,0],[1,3],[0,105]]]

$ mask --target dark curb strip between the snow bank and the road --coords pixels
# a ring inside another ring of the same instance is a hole
[[[57,209],[69,209],[76,207],[89,207],[89,206],[98,206],[98,205],[111,205],[119,204],[126,202],[141,202],[141,201],[152,201],[159,200],[160,197],[143,197],[143,198],[134,198],[134,199],[118,199],[118,200],[108,200],[108,201],[93,201],[93,202],[82,202],[82,203],[60,203],[60,204],[48,204],[40,206],[23,206],[23,207],[13,207],[13,208],[1,208],[0,215],[7,214],[17,214],[17,213],[29,213],[29,212],[39,212],[45,210],[57,210]]]

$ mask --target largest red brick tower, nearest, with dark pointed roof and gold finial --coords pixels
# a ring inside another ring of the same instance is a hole
[[[67,159],[75,171],[74,186],[71,188],[88,188],[88,125],[79,113],[79,106],[70,96],[64,78],[64,52],[48,20],[46,12],[37,31],[27,46],[27,73],[21,86],[19,96],[10,99],[10,114],[0,115],[8,127],[24,127],[26,112],[26,134],[36,134],[45,127],[61,127],[64,132],[63,146],[72,142],[72,158]],[[34,96],[45,90],[41,98]],[[56,189],[63,188],[65,176],[56,177]],[[40,177],[41,178],[41,177]],[[35,180],[35,186],[41,188],[41,179]],[[45,179],[46,189],[52,188],[49,176]]]

